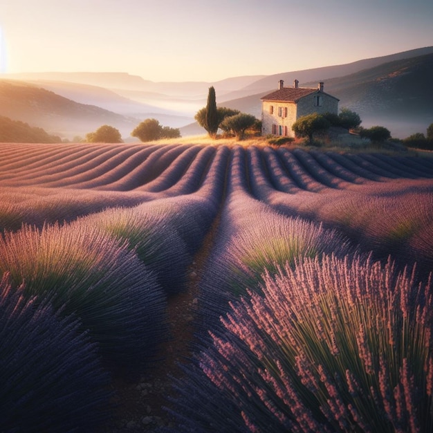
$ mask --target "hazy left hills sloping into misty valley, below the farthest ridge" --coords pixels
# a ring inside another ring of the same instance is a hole
[[[42,87],[44,85],[46,88]],[[64,95],[69,92],[74,100],[48,89]],[[138,123],[149,117],[157,118],[163,125],[190,122],[186,116],[127,100],[101,87],[19,80],[0,80],[0,116],[27,122],[69,139],[85,136],[102,125],[116,127],[126,138]]]

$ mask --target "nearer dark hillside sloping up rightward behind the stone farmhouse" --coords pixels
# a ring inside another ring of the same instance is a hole
[[[339,107],[360,114],[362,126],[383,125],[394,137],[424,132],[433,122],[433,53],[398,59],[324,82],[324,91],[340,99]],[[285,82],[291,86],[292,82]],[[317,82],[300,82],[315,87]],[[261,116],[260,98],[277,88],[219,105]]]

